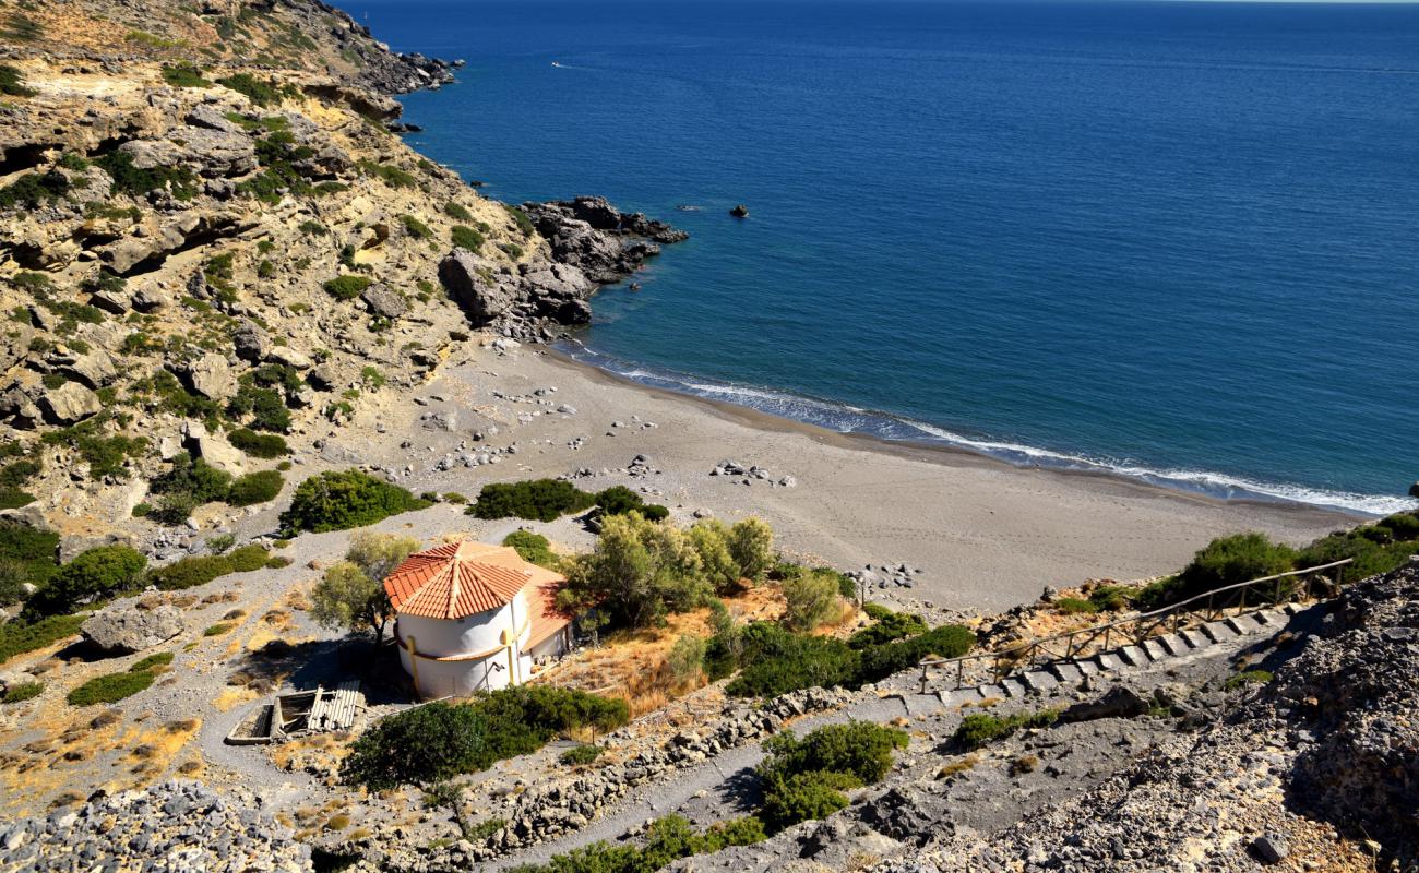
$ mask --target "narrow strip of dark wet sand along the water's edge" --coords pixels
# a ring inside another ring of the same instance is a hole
[[[712,410],[714,413],[722,416],[727,420],[739,424],[745,424],[749,427],[759,427],[765,430],[780,429],[786,432],[805,433],[819,440],[833,441],[844,447],[860,449],[864,451],[895,454],[898,457],[925,460],[946,466],[979,464],[988,468],[1010,470],[1017,473],[1078,477],[1084,480],[1093,480],[1100,485],[1111,484],[1121,490],[1137,490],[1138,493],[1144,494],[1161,494],[1178,500],[1192,500],[1209,505],[1273,508],[1281,511],[1291,511],[1297,514],[1321,514],[1325,517],[1338,515],[1349,520],[1352,524],[1374,521],[1375,518],[1381,517],[1378,514],[1368,514],[1347,507],[1330,507],[1330,505],[1305,503],[1300,500],[1271,497],[1264,494],[1259,494],[1254,497],[1219,497],[1215,494],[1208,494],[1205,491],[1175,488],[1165,484],[1151,483],[1144,478],[1132,477],[1121,471],[1110,470],[1108,467],[1104,467],[1101,464],[1094,468],[1071,468],[1064,466],[1056,467],[1049,464],[1026,466],[1026,464],[1016,464],[1006,459],[989,454],[986,451],[979,451],[968,446],[961,446],[945,440],[942,441],[894,440],[871,433],[840,432],[840,430],[833,430],[830,427],[823,427],[822,424],[800,422],[797,419],[790,419],[772,412],[765,412],[762,409],[755,409],[752,406],[732,403],[729,400],[718,400],[714,397],[705,397],[691,392],[681,392],[670,388],[647,385],[630,376],[624,376],[622,373],[600,368],[589,361],[580,361],[556,346],[542,346],[542,349],[546,351],[551,359],[558,361],[568,368],[575,368],[583,373],[589,373],[593,378],[606,379],[610,383],[633,388],[657,396],[692,402],[702,406],[704,409]]]

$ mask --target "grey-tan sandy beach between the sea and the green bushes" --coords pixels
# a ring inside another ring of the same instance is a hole
[[[1005,609],[1036,599],[1046,585],[1171,572],[1222,534],[1260,529],[1301,544],[1355,522],[1317,508],[1226,503],[844,436],[627,383],[532,346],[464,348],[416,393],[416,405],[360,413],[358,432],[383,429],[380,444],[333,429],[321,457],[302,466],[372,464],[416,493],[470,497],[490,481],[592,471],[580,487],[626,484],[681,521],[695,511],[761,515],[782,548],[805,559],[840,569],[920,568],[912,589],[878,596],[945,609]],[[480,450],[509,447],[515,453],[497,454],[498,463],[463,464]],[[656,473],[627,474],[639,454]],[[769,478],[711,476],[721,460],[762,467]],[[779,485],[783,477],[795,484]],[[548,532],[568,545],[590,544],[566,522]]]

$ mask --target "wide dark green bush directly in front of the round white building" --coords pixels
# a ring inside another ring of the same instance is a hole
[[[613,730],[626,720],[622,700],[549,686],[501,688],[465,704],[431,703],[365,731],[345,758],[342,778],[372,791],[437,782],[534,752],[558,732]]]

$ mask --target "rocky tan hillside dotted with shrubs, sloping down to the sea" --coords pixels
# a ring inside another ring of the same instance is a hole
[[[0,508],[68,534],[180,525],[133,518],[175,461],[274,467],[230,432],[309,447],[478,328],[585,324],[658,251],[640,237],[683,236],[599,199],[534,221],[480,197],[372,89],[447,70],[312,0],[7,6],[0,27]]]

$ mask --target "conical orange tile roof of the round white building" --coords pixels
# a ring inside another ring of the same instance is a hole
[[[524,561],[512,548],[464,541],[410,555],[385,578],[385,591],[400,613],[461,619],[511,603],[534,579],[562,576]]]

